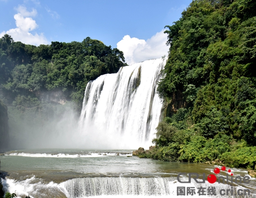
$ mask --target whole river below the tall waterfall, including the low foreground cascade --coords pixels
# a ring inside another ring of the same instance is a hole
[[[138,158],[132,156],[131,150],[20,150],[6,152],[0,160],[1,175],[6,176],[1,179],[4,190],[16,191],[20,198],[28,194],[34,198],[170,197],[176,196],[177,185],[185,185],[177,182],[180,172],[195,172],[202,178],[203,173],[212,174],[219,167]],[[246,170],[231,170],[235,176],[248,176]],[[198,186],[195,182],[191,185]],[[214,185],[217,189],[230,188],[230,185]],[[251,178],[249,185],[234,187],[249,188],[256,193],[256,180]]]

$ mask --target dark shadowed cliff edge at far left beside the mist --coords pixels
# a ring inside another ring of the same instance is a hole
[[[7,106],[0,100],[0,150],[9,147]]]

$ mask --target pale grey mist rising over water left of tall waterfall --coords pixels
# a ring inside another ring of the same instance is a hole
[[[46,104],[40,109],[8,107],[10,144],[20,148],[77,148],[79,115],[74,105]]]

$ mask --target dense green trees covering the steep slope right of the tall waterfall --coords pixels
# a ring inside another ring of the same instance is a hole
[[[164,119],[140,157],[256,169],[256,1],[193,0],[167,27]]]

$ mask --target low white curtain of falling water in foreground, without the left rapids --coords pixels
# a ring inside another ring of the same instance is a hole
[[[187,177],[180,180],[187,181]],[[202,181],[202,180],[201,180]],[[209,183],[197,184],[191,181],[190,184],[181,184],[175,177],[168,178],[74,178],[61,183],[61,189],[68,198],[86,198],[94,196],[108,197],[111,195],[122,197],[181,197],[177,196],[177,186],[208,188]],[[221,189],[231,189],[230,185],[215,184],[216,196],[221,198]],[[243,189],[242,187],[238,187]],[[183,196],[182,196],[183,197]],[[195,194],[193,197],[201,197]],[[204,197],[213,197],[211,195]],[[229,196],[224,196],[229,197]],[[233,197],[233,196],[232,196]]]

